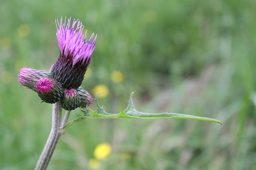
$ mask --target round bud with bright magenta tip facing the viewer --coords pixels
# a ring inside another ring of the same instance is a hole
[[[49,77],[40,78],[36,82],[38,96],[46,103],[56,103],[63,96],[63,88],[55,79]]]

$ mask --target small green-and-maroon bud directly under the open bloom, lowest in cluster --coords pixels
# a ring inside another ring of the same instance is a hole
[[[61,99],[61,105],[65,110],[74,110],[81,104],[81,97],[76,89],[65,89]]]

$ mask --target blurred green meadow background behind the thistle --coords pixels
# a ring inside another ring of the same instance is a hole
[[[43,150],[52,105],[40,104],[17,75],[49,69],[59,55],[55,19],[71,16],[87,38],[97,33],[82,86],[93,97],[108,91],[99,99],[108,112],[118,113],[115,102],[125,109],[136,91],[137,110],[223,126],[88,119],[61,136],[48,170],[255,170],[255,8],[254,0],[1,0],[0,169],[34,169]],[[97,161],[103,142],[112,151]]]

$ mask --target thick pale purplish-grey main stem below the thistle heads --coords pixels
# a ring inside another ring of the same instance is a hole
[[[63,132],[61,128],[61,103],[56,102],[52,106],[52,129],[34,170],[45,170],[52,157],[54,149]]]

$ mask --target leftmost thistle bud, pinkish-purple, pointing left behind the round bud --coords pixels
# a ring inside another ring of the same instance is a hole
[[[33,68],[21,68],[18,75],[18,82],[33,91],[36,91],[36,82],[42,77],[50,77],[50,73],[45,70],[36,70]]]

